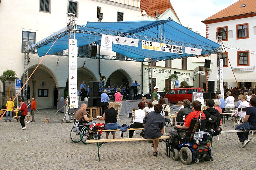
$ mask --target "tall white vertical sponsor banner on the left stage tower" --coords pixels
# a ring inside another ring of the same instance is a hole
[[[69,103],[70,109],[78,108],[77,101],[77,60],[76,60],[76,40],[69,39]]]

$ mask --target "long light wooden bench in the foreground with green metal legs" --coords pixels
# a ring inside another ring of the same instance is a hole
[[[128,129],[127,129],[128,130]],[[104,131],[104,130],[102,130]],[[169,144],[170,136],[161,136],[156,139],[162,139],[166,143],[166,155],[170,157],[170,144]],[[94,139],[94,140],[86,140],[86,143],[97,143],[98,149],[98,159],[100,161],[100,147],[104,142],[129,142],[129,141],[146,141],[146,140],[154,140],[154,139],[144,139],[144,138],[122,138],[122,139]]]

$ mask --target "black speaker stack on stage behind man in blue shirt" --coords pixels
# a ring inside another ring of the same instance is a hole
[[[100,107],[101,97],[99,97],[99,82],[90,81],[90,97],[88,98],[88,107]]]

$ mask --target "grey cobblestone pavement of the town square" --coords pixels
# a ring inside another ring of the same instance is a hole
[[[35,113],[35,122],[26,123],[25,130],[19,130],[21,125],[16,120],[0,121],[0,169],[256,169],[256,135],[250,135],[250,143],[242,148],[235,133],[221,134],[220,140],[214,137],[214,161],[200,160],[199,164],[185,165],[180,159],[174,161],[166,156],[165,142],[159,143],[159,155],[153,156],[151,143],[140,141],[103,144],[101,162],[98,162],[97,144],[73,143],[69,138],[73,124],[60,124],[64,114],[58,112],[51,118],[55,112],[54,109],[39,110]],[[51,118],[49,123],[44,123],[45,116]],[[131,118],[120,116],[120,119],[118,123],[122,125]],[[166,132],[169,128],[170,125]],[[226,121],[222,129],[234,129],[232,121]],[[120,138],[120,133],[116,136]],[[134,137],[140,137],[139,132]],[[128,138],[128,132],[124,138]]]

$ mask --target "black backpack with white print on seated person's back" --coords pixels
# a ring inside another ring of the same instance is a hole
[[[221,133],[222,129],[219,127],[218,119],[215,115],[210,115],[207,119],[206,127],[208,132],[211,132],[213,136],[217,136]]]

